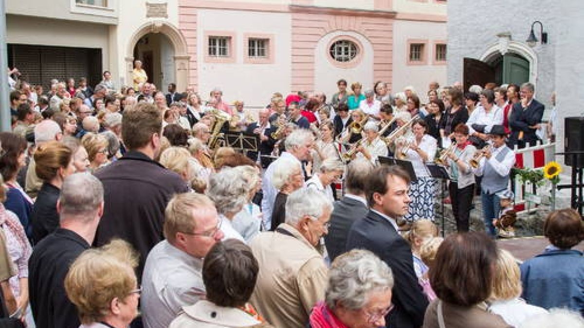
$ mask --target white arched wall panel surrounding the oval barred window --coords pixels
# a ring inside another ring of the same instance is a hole
[[[361,62],[354,68],[339,68],[328,60],[328,45],[333,38],[339,35],[352,36],[359,40],[361,47],[363,47]],[[345,79],[349,86],[353,82],[361,82],[365,89],[371,88],[370,81],[373,81],[373,46],[361,34],[349,31],[326,34],[318,41],[314,57],[314,88],[315,91],[324,92],[328,102],[331,100],[333,93],[338,91],[336,82],[339,79]]]

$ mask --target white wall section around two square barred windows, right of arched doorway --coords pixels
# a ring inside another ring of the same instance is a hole
[[[244,15],[245,14],[245,15]],[[265,106],[273,92],[286,95],[291,79],[291,18],[289,13],[238,12],[201,9],[197,15],[197,69],[199,93],[207,99],[219,86],[224,100],[243,100],[245,106]],[[205,31],[235,33],[235,62],[214,64],[204,62]],[[244,33],[275,34],[274,64],[244,64]]]

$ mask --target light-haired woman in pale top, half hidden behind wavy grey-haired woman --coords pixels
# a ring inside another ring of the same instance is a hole
[[[262,189],[262,178],[260,177],[260,170],[251,165],[235,166],[234,169],[246,181],[248,203],[244,205],[241,211],[235,214],[231,223],[233,228],[241,233],[245,241],[249,242],[259,233],[262,226],[262,211],[252,201],[255,194]]]

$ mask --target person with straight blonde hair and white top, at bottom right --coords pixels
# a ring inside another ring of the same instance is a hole
[[[499,249],[494,271],[489,306],[492,313],[502,316],[514,327],[519,327],[531,316],[547,313],[544,308],[529,305],[519,298],[522,291],[519,264],[511,253]]]

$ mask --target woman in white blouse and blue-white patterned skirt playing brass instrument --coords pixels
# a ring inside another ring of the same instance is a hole
[[[433,162],[436,155],[437,142],[431,135],[426,134],[427,125],[423,120],[416,120],[412,124],[413,139],[408,148],[403,149],[405,158],[412,162],[413,170],[418,180],[412,182],[409,190],[408,214],[406,221],[418,219],[434,220],[435,181],[430,177],[426,163]]]

